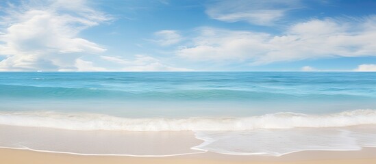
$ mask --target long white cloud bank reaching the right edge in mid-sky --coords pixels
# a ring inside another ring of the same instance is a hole
[[[282,35],[203,27],[177,55],[195,61],[247,61],[251,65],[322,57],[376,55],[376,16],[312,19]]]

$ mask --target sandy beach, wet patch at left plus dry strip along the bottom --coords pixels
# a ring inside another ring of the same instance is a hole
[[[203,142],[192,132],[68,131],[4,125],[0,126],[0,130],[4,134],[0,138],[2,145],[23,143],[24,148],[60,151],[0,148],[1,163],[376,163],[376,148],[309,150],[282,156],[231,155],[191,149]],[[77,154],[65,153],[70,149]],[[103,154],[117,151],[136,156],[95,155],[90,151]],[[145,156],[147,154],[156,156]]]

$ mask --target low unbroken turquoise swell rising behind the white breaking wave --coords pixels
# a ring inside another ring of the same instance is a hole
[[[6,98],[114,98],[114,99],[168,99],[168,100],[286,100],[295,98],[314,98],[333,100],[349,98],[368,98],[360,94],[306,94],[282,93],[260,90],[223,89],[174,89],[174,90],[138,90],[119,87],[49,87],[30,85],[1,85],[0,97]]]

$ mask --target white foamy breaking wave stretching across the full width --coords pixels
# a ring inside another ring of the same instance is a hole
[[[1,112],[0,124],[79,131],[247,131],[273,128],[321,128],[376,124],[376,110],[326,115],[273,113],[248,118],[118,118],[95,113]]]

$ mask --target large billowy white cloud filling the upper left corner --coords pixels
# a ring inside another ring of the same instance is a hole
[[[0,55],[5,59],[0,61],[0,70],[79,70],[79,57],[105,51],[78,36],[83,29],[110,19],[90,8],[86,0],[9,3],[4,12]]]

